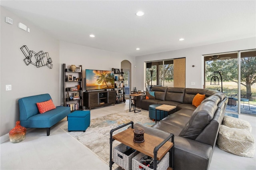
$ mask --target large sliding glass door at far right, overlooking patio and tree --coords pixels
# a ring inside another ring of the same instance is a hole
[[[204,88],[228,97],[226,111],[256,115],[256,50],[204,56]]]

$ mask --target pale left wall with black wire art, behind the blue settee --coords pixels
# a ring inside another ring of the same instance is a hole
[[[0,52],[0,136],[8,134],[20,119],[18,99],[31,95],[49,93],[55,105],[59,99],[59,42],[42,32],[32,23],[12,12],[1,8],[1,52]],[[13,24],[5,23],[5,17],[10,17]],[[18,28],[22,22],[30,28],[30,33]],[[53,68],[47,66],[37,68],[26,65],[20,47],[27,45],[35,52],[48,52],[52,58]],[[12,91],[6,91],[5,86],[12,85]],[[2,138],[1,138],[2,141]]]

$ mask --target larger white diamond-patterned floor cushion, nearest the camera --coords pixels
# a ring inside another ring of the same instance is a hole
[[[238,155],[253,158],[255,141],[251,132],[240,128],[229,128],[220,125],[217,145],[221,150]]]

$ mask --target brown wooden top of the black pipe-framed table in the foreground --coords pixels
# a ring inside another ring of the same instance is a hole
[[[158,146],[158,144],[160,144],[164,139],[144,133],[145,141],[142,143],[136,143],[133,141],[133,130],[134,129],[132,128],[128,128],[118,134],[115,134],[113,138],[127,146],[130,146],[131,148],[134,148],[135,150],[138,150],[139,152],[154,158],[154,148]],[[173,143],[167,141],[162,147],[160,147],[157,152],[157,160],[162,159],[162,157],[164,157],[164,155],[168,152],[168,150],[170,150],[170,148],[172,148],[172,146]]]

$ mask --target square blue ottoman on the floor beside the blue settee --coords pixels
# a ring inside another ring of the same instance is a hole
[[[68,115],[68,132],[85,130],[90,126],[90,111],[74,111]]]

